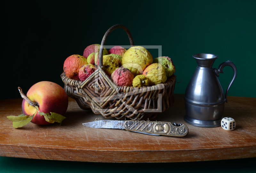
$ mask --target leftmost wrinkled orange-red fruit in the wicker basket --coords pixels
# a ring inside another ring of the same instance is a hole
[[[79,80],[79,69],[87,63],[87,59],[81,55],[68,56],[64,62],[63,70],[65,75],[70,79]]]

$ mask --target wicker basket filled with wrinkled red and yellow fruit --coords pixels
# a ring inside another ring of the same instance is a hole
[[[131,48],[105,48],[108,35],[116,28],[127,33]],[[168,56],[153,60],[147,49],[134,46],[130,31],[115,25],[101,44],[84,49],[83,56],[69,56],[61,79],[69,97],[81,109],[91,109],[105,118],[152,120],[173,105],[175,66]]]

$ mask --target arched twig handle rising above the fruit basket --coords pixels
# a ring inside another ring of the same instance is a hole
[[[127,33],[128,37],[129,37],[129,40],[130,40],[130,43],[131,43],[131,47],[134,45],[133,43],[133,39],[132,39],[132,34],[130,33],[129,29],[127,27],[125,27],[124,25],[121,25],[121,24],[117,24],[117,25],[114,25],[112,27],[110,27],[108,29],[108,31],[105,33],[105,35],[103,36],[102,38],[102,41],[101,41],[101,44],[100,44],[100,53],[99,53],[99,65],[100,67],[103,66],[103,49],[104,49],[104,46],[105,46],[105,43],[106,43],[106,40],[108,38],[108,35],[116,28],[122,28],[124,29],[124,31]]]

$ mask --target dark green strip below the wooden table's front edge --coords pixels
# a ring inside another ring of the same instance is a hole
[[[223,152],[221,152],[223,154]],[[255,173],[255,158],[173,163],[92,163],[0,157],[1,173]],[[1,169],[4,168],[4,169]]]

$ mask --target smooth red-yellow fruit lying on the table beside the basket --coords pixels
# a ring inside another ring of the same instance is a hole
[[[38,111],[36,107],[28,104],[27,100],[22,102],[22,111],[24,115],[36,115],[31,120],[32,123],[38,125],[51,124],[45,121],[44,116],[39,115],[38,112],[49,113],[54,112],[64,115],[68,109],[68,95],[65,90],[58,84],[49,81],[41,81],[28,90],[27,97],[32,102],[38,103]],[[50,114],[51,115],[51,114]]]

